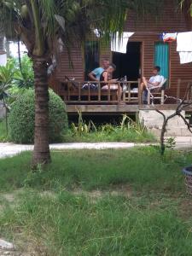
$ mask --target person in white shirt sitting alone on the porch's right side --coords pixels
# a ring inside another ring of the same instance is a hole
[[[155,90],[157,86],[162,82],[163,77],[160,76],[160,67],[156,66],[153,69],[153,76],[147,80],[143,77],[143,83],[141,84],[141,91],[143,93],[143,104],[148,104],[148,90]]]

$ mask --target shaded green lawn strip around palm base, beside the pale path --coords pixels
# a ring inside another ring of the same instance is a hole
[[[53,162],[43,171],[30,169],[31,154],[0,160],[0,189],[108,189],[130,184],[136,190],[182,191],[183,154],[160,157],[158,148],[65,150],[52,154]]]

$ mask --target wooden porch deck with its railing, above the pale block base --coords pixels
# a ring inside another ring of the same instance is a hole
[[[51,82],[51,81],[50,81]],[[87,89],[84,90],[83,85],[87,84]],[[50,83],[50,87],[55,90],[67,105],[67,113],[69,115],[77,115],[80,111],[87,115],[119,115],[121,113],[136,114],[139,110],[154,109],[152,105],[142,104],[142,92],[140,88],[141,80],[137,81],[118,81],[117,90],[110,90],[110,83],[108,90],[102,90],[101,82],[94,82],[97,89],[92,90],[91,84],[93,82],[77,82],[76,80],[66,79],[64,81],[57,80]],[[187,88],[192,84],[192,80],[177,80],[177,95],[172,95],[172,91],[166,89],[167,96],[174,96],[175,99],[183,98],[181,90]],[[126,85],[126,90],[124,86]],[[192,88],[192,86],[191,86]],[[123,91],[122,91],[123,90]],[[158,93],[160,94],[160,92]],[[166,96],[165,93],[163,96]],[[162,97],[162,94],[161,94]],[[192,91],[189,91],[188,99],[192,98]],[[155,108],[161,110],[175,110],[176,101],[166,101],[165,104],[161,101],[162,98],[157,98],[155,101]],[[161,102],[161,104],[160,104]],[[159,104],[159,105],[158,105]],[[186,113],[192,114],[192,108],[185,109]]]

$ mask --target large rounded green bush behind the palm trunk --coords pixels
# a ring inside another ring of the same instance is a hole
[[[15,143],[33,143],[35,104],[34,91],[27,90],[11,106],[9,132]],[[67,113],[64,102],[49,90],[49,143],[61,141],[61,134],[67,132]]]

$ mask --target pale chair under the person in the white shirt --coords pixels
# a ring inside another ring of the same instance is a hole
[[[166,84],[167,79],[165,79],[163,76],[162,77],[162,81],[160,83],[160,85],[158,86],[154,86],[151,88],[147,88],[148,90],[148,105],[150,105],[150,102],[154,102],[154,100],[160,100],[160,104],[163,105],[165,102],[165,90],[163,89],[163,85]],[[156,92],[153,90],[157,90],[159,89],[160,92]]]

